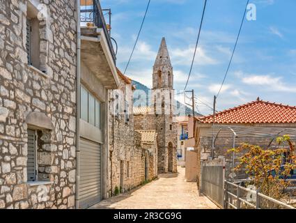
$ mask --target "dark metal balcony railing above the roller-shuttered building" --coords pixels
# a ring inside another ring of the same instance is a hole
[[[104,31],[104,35],[107,38],[107,43],[109,49],[116,64],[116,54],[114,47],[111,42],[110,32],[107,29],[107,24],[104,20],[104,15],[102,13],[102,8],[99,0],[80,0],[80,22],[92,22],[98,28],[101,28]],[[111,27],[110,27],[111,29]]]

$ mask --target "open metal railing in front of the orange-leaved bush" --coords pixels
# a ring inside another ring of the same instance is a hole
[[[225,190],[224,190],[224,208],[233,208],[233,209],[267,209],[267,208],[283,208],[283,209],[296,209],[293,206],[283,203],[268,197],[265,194],[261,194],[260,190],[251,190],[246,187],[242,187],[241,183],[231,183],[225,181]],[[253,201],[248,201],[247,196],[253,197]],[[265,200],[265,201],[263,201]]]

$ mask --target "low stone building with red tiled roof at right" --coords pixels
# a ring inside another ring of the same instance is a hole
[[[243,155],[235,153],[233,157],[233,153],[227,152],[233,148],[233,143],[235,147],[248,143],[264,149],[274,149],[279,146],[276,142],[277,137],[289,134],[295,140],[296,107],[258,98],[245,105],[218,112],[215,114],[213,151],[212,122],[212,115],[195,118],[195,131],[193,131],[193,118],[189,118],[189,139],[185,141],[185,147],[194,147],[198,153],[196,160],[198,183],[201,179],[201,162],[212,160],[212,155],[215,159],[225,158],[225,177],[232,177],[233,164],[236,166]],[[247,178],[244,171],[235,175],[235,178]]]

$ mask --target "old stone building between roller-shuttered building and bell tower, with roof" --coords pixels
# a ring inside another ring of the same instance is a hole
[[[109,195],[157,177],[156,134],[134,130],[132,80],[118,70],[120,86],[109,91]],[[149,135],[149,137],[146,137]],[[152,136],[152,139],[150,138]]]

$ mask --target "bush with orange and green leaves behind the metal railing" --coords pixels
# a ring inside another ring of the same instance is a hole
[[[251,183],[260,188],[263,194],[274,199],[286,200],[288,194],[285,193],[285,189],[290,186],[287,178],[290,171],[296,169],[295,143],[288,135],[279,137],[276,141],[279,148],[274,150],[265,150],[260,146],[244,143],[238,148],[228,150],[228,153],[244,152],[235,171],[244,170],[250,176]],[[286,160],[283,159],[283,154],[286,154]]]

